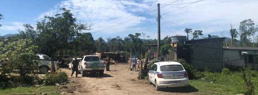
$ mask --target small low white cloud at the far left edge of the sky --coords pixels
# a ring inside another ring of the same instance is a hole
[[[3,23],[0,30],[17,31],[18,29],[23,29],[23,24],[22,22]]]

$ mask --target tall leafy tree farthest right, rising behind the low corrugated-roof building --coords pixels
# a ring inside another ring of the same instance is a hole
[[[246,47],[250,44],[250,36],[255,33],[255,23],[251,19],[247,19],[240,22],[239,26],[240,31],[240,40],[242,42],[242,46]]]

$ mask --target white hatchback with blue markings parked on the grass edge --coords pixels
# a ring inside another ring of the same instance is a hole
[[[188,74],[182,64],[178,62],[154,63],[148,72],[148,79],[150,84],[155,84],[156,90],[189,85]]]

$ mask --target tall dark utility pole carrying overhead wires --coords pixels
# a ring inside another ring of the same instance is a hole
[[[160,4],[158,3],[158,47],[157,47],[157,58],[159,58],[159,47],[160,47]]]

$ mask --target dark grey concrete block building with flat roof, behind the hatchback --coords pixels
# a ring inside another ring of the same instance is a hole
[[[210,38],[185,41],[190,45],[190,63],[196,69],[221,70],[223,66],[223,40],[225,38]]]

